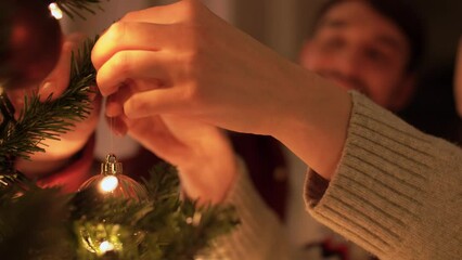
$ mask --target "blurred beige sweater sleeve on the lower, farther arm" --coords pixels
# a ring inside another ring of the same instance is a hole
[[[242,160],[239,168],[239,177],[224,203],[235,206],[241,224],[230,235],[217,239],[213,249],[198,259],[291,259],[278,216],[252,184]]]

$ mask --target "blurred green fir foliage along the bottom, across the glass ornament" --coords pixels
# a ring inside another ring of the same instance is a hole
[[[194,259],[239,219],[232,206],[180,199],[176,168],[161,166],[144,181],[149,199],[63,195],[30,185],[22,196],[0,188],[0,256],[4,259]],[[155,188],[154,188],[155,187]],[[34,232],[30,232],[34,231]],[[101,252],[111,242],[114,250]],[[93,250],[93,251],[91,251]],[[20,258],[18,258],[20,257]]]

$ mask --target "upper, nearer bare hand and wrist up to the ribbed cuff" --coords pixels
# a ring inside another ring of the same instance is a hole
[[[349,95],[197,0],[127,14],[97,42],[92,62],[101,93],[113,95],[108,107],[129,119],[175,115],[269,134],[324,178],[336,169]]]

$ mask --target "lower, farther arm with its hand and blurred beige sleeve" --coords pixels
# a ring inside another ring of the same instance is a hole
[[[125,118],[124,123],[133,139],[177,166],[187,196],[236,207],[242,223],[217,242],[208,258],[288,259],[282,224],[251,183],[223,131],[175,116]]]

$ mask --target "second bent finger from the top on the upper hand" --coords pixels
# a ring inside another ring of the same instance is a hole
[[[103,96],[107,96],[115,93],[130,79],[149,79],[144,82],[149,82],[151,89],[168,84],[168,75],[172,73],[170,58],[159,52],[118,52],[98,72],[98,87]]]

